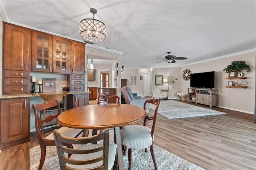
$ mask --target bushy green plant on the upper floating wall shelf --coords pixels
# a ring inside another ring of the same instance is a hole
[[[226,73],[230,73],[232,71],[239,73],[242,71],[242,69],[244,69],[246,72],[250,71],[250,67],[245,63],[245,61],[232,61],[232,63],[224,68],[223,71]]]

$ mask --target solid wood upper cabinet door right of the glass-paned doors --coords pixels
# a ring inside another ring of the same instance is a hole
[[[84,74],[85,44],[71,42],[71,73]]]

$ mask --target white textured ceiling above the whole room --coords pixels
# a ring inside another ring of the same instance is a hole
[[[1,0],[4,21],[83,41],[78,25],[106,24],[96,45],[124,52],[125,68],[178,67],[256,48],[255,0]],[[187,57],[176,63],[160,61]]]

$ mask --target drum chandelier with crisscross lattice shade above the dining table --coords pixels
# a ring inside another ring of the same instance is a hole
[[[90,8],[90,12],[93,14],[93,19],[86,18],[80,22],[80,36],[85,40],[101,42],[106,39],[106,26],[103,22],[94,19],[94,14],[97,13],[96,9]]]

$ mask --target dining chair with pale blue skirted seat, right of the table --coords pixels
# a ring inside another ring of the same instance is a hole
[[[150,147],[150,152],[152,156],[152,160],[154,163],[154,167],[157,170],[156,158],[154,156],[153,150],[153,141],[154,141],[154,130],[156,125],[156,115],[157,110],[160,104],[159,99],[149,99],[144,103],[144,109],[146,110],[146,104],[151,103],[152,105],[156,105],[154,116],[149,117],[148,115],[144,118],[143,125],[126,125],[121,128],[121,141],[124,146],[124,153],[126,154],[126,150],[128,148],[128,162],[129,162],[129,170],[132,167],[132,149],[145,149],[145,152],[148,152],[147,148]],[[147,121],[153,121],[151,129],[146,127]]]

